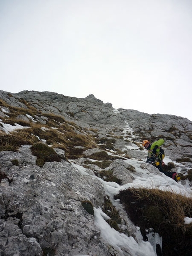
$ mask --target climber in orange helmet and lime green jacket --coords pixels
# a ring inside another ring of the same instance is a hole
[[[166,172],[163,170],[162,167],[162,165],[164,164],[163,158],[165,157],[165,152],[160,146],[164,142],[165,141],[163,138],[160,138],[152,144],[148,140],[144,140],[142,142],[142,146],[148,150],[146,163],[154,165],[156,168],[159,169],[160,172],[163,172],[165,175],[177,182],[181,178],[179,174],[177,174],[176,172]]]

